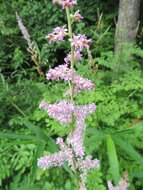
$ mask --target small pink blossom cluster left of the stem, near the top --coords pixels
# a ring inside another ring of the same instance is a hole
[[[52,33],[48,34],[46,38],[49,42],[63,41],[64,37],[67,35],[67,29],[65,26],[56,27]]]

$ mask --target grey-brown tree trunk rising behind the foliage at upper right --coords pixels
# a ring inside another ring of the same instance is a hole
[[[124,44],[134,44],[138,28],[140,0],[120,0],[115,34],[115,54],[122,52]]]

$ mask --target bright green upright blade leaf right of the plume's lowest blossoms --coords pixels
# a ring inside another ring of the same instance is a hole
[[[116,153],[116,147],[110,135],[107,136],[106,143],[107,143],[107,153],[108,153],[111,174],[112,174],[115,184],[118,184],[119,179],[120,179],[119,162],[118,162],[118,157]]]

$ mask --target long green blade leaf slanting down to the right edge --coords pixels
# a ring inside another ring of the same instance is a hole
[[[143,164],[143,157],[135,150],[135,148],[126,140],[121,139],[120,137],[114,138],[115,143],[133,160],[137,161],[140,164]]]

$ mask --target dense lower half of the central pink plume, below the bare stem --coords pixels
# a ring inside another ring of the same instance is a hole
[[[86,129],[85,119],[88,114],[95,111],[96,106],[94,103],[88,105],[76,106],[67,101],[61,101],[57,104],[49,105],[46,102],[40,103],[40,108],[46,110],[49,115],[57,119],[60,123],[71,122],[74,115],[76,120],[75,129],[67,137],[67,145],[63,142],[62,138],[57,139],[60,151],[58,153],[44,156],[38,160],[38,166],[46,169],[55,166],[62,166],[65,162],[71,166],[73,170],[80,171],[80,189],[86,190],[86,177],[90,169],[99,168],[99,160],[92,159],[92,156],[87,156],[84,159],[84,132]],[[77,162],[75,163],[75,159]]]

